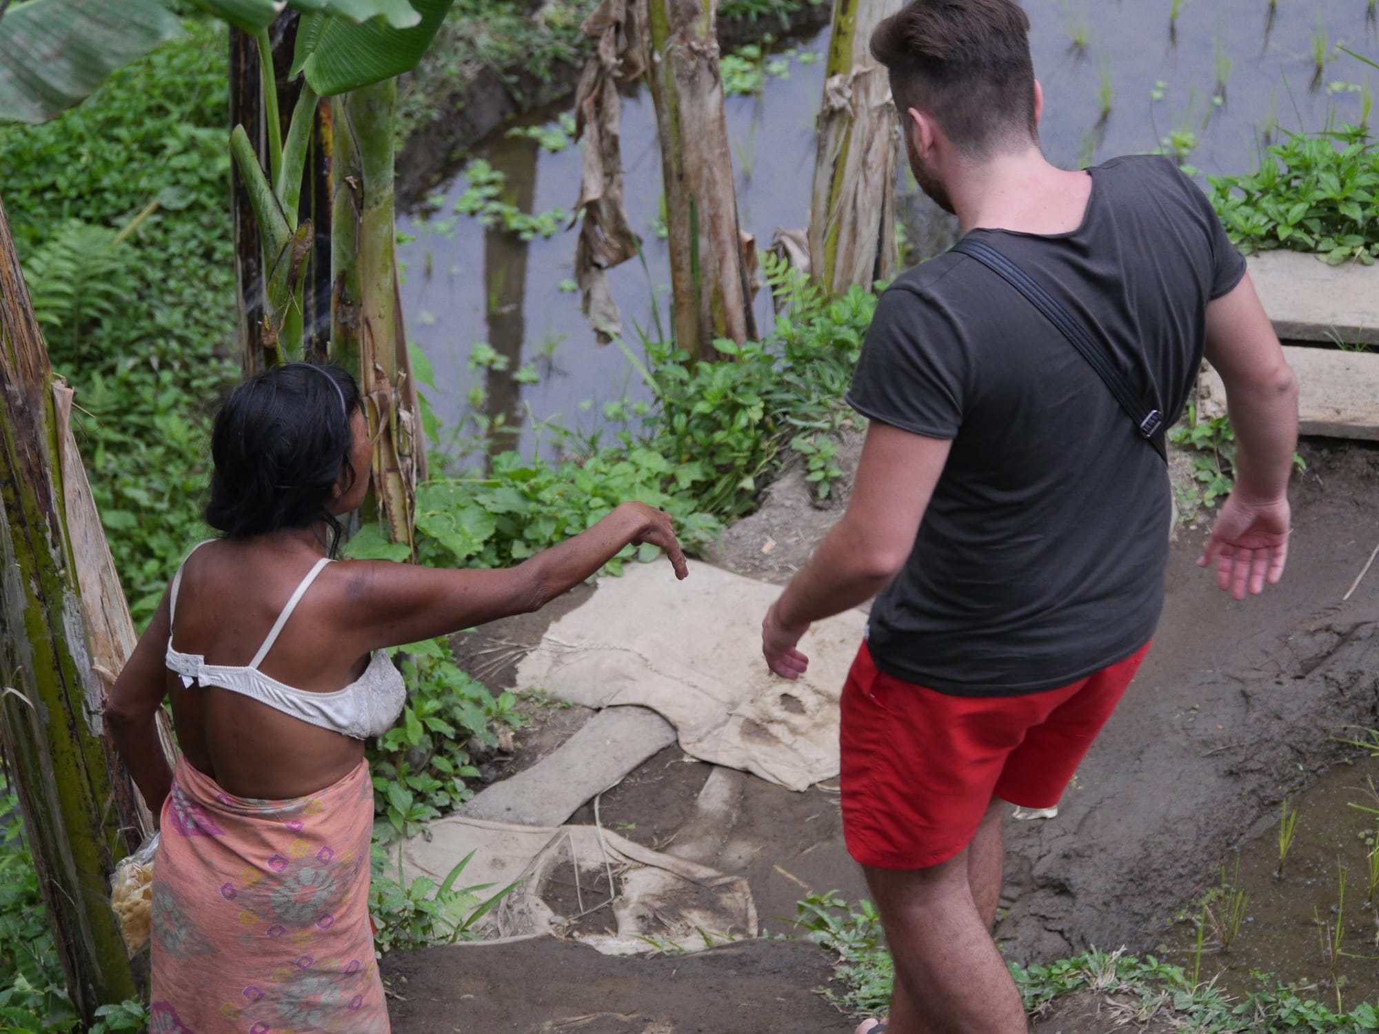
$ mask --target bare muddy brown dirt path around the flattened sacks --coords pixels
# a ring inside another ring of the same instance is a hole
[[[1193,564],[1205,531],[1179,534],[1156,648],[1135,685],[1059,815],[1011,823],[1005,918],[997,932],[1009,958],[1047,961],[1088,946],[1153,950],[1164,920],[1202,889],[1194,884],[1215,859],[1281,794],[1340,757],[1331,739],[1336,727],[1379,725],[1379,571],[1340,602],[1379,542],[1379,451],[1314,444],[1305,458],[1309,472],[1292,492],[1295,535],[1281,590],[1242,604],[1226,600]],[[768,506],[729,529],[713,560],[757,578],[789,579],[837,513],[815,510],[792,491],[782,484]],[[474,659],[514,658],[545,626],[545,615],[499,623],[466,638],[465,651]],[[483,652],[495,645],[507,652]],[[503,676],[510,685],[512,665],[502,669],[491,676],[495,687]],[[530,764],[579,720],[556,713],[552,725],[520,733],[519,743],[530,746],[491,771]],[[601,820],[667,849],[692,818],[710,771],[676,747],[665,750],[603,794]],[[765,931],[787,932],[794,902],[809,891],[865,896],[843,848],[836,787],[796,794],[734,773],[728,789],[716,819],[717,853],[706,862],[747,877]],[[542,940],[393,955],[385,971],[407,977],[397,986],[407,1001],[394,1008],[400,1034],[848,1030],[808,993],[822,982],[825,962],[815,949],[781,942],[612,960]],[[461,1001],[462,994],[476,998]],[[432,997],[437,1004],[422,1004]],[[550,1026],[610,1011],[638,1016],[641,1026],[607,1016],[582,1027]],[[760,1017],[754,1024],[753,1015]],[[673,1026],[655,1026],[670,1016]],[[1051,1020],[1040,1030],[1089,1031],[1100,1022],[1076,1011]]]

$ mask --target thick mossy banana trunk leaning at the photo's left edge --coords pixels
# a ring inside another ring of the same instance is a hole
[[[69,401],[0,204],[0,746],[68,990],[90,1023],[137,991],[108,881],[148,818],[102,728],[106,681],[132,626],[90,523]]]

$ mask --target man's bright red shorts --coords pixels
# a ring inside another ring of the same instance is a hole
[[[993,797],[1052,808],[1149,644],[1062,689],[953,696],[876,670],[843,688],[843,833],[863,866],[927,869],[965,848]]]

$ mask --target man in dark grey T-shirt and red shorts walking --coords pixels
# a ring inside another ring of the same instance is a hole
[[[1183,409],[1226,383],[1236,491],[1198,561],[1237,600],[1278,582],[1296,385],[1245,263],[1162,157],[1085,172],[1038,148],[1029,21],[1011,0],[913,0],[872,51],[910,168]],[[870,418],[852,499],[763,623],[797,678],[809,623],[880,591],[843,692],[843,818],[895,958],[865,1034],[1018,1034],[990,929],[1007,804],[1048,808],[1139,666],[1162,605],[1165,463],[1052,321],[965,254],[883,295],[848,396]]]

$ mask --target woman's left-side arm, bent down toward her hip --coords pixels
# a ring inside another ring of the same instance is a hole
[[[120,677],[114,680],[105,704],[105,721],[110,739],[130,778],[143,794],[157,824],[163,801],[172,790],[172,769],[163,756],[159,739],[157,714],[167,696],[167,653],[170,620],[168,597],[163,594],[153,620],[143,630]]]

